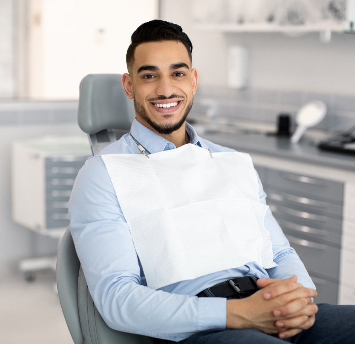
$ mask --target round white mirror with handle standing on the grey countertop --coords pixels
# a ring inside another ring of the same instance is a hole
[[[297,143],[306,130],[321,122],[327,113],[327,106],[323,101],[313,100],[303,105],[296,114],[297,128],[291,137],[292,143]]]

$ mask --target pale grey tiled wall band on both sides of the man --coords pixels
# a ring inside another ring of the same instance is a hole
[[[327,105],[327,116],[318,125],[319,129],[331,132],[355,125],[355,97],[350,95],[252,89],[238,91],[221,87],[201,87],[195,96],[192,116],[194,113],[205,116],[211,104],[216,104],[217,115],[269,124],[275,123],[280,113],[289,113],[294,119],[297,110],[311,100],[321,100]],[[77,110],[78,101],[3,101],[0,102],[0,126],[76,125]]]

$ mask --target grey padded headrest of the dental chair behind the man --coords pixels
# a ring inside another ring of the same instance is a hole
[[[123,91],[121,74],[88,74],[79,87],[78,124],[87,134],[105,129],[129,130],[133,101]]]

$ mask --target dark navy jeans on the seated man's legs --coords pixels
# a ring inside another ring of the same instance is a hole
[[[355,343],[355,305],[318,304],[314,325],[292,338],[282,340],[253,329],[207,330],[179,341],[181,344],[353,344]],[[174,343],[173,341],[157,341]]]

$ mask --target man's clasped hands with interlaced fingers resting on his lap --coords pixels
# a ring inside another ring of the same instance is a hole
[[[227,328],[256,328],[283,339],[314,324],[318,308],[311,297],[317,292],[297,283],[297,276],[260,279],[258,286],[249,297],[227,300]]]

